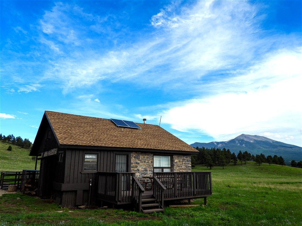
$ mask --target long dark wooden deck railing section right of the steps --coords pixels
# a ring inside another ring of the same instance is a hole
[[[211,172],[154,173],[165,186],[164,199],[205,197],[212,194]]]

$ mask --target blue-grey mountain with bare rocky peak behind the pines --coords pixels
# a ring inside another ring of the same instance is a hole
[[[263,153],[265,156],[277,155],[282,156],[286,162],[291,160],[301,161],[302,160],[302,148],[292,144],[286,144],[279,141],[269,139],[267,137],[261,137],[257,135],[246,135],[241,134],[240,136],[221,142],[210,142],[210,143],[199,143],[195,142],[190,144],[192,147],[205,147],[205,148],[226,148],[236,154],[241,150],[242,152],[247,151],[251,154]]]

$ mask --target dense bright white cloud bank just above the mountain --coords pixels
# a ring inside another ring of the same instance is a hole
[[[164,113],[165,122],[179,131],[209,134],[216,141],[247,133],[267,134],[271,139],[293,140],[299,145],[300,65],[299,52],[278,51],[238,76],[211,83],[207,98],[187,100],[171,107]]]

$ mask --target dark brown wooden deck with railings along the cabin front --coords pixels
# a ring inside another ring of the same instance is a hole
[[[212,195],[211,172],[154,173],[153,190],[146,190],[134,173],[98,172],[97,199],[116,205],[132,203],[141,210],[142,197],[152,195],[164,206],[168,200],[204,198]]]

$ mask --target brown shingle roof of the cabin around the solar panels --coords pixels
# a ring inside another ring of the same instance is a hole
[[[197,152],[160,126],[137,123],[142,130],[117,127],[110,119],[45,111],[60,145],[145,148]]]

